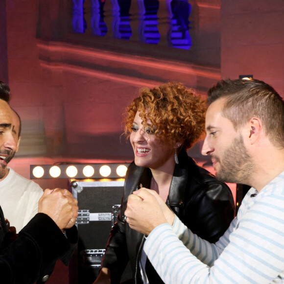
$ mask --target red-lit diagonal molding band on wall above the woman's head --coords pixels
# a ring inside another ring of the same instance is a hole
[[[127,55],[65,42],[38,40],[40,64],[51,70],[73,71],[137,87],[181,81],[205,95],[220,79],[220,70],[196,64]]]

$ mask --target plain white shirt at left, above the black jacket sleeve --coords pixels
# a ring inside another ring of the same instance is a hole
[[[38,212],[38,201],[44,191],[33,181],[9,168],[8,175],[0,181],[0,206],[4,217],[17,233]]]

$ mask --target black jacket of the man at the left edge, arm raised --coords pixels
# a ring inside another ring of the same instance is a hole
[[[0,207],[0,283],[34,284],[47,281],[56,260],[68,264],[78,240],[77,229],[66,230],[66,238],[54,221],[37,213],[10,242]]]

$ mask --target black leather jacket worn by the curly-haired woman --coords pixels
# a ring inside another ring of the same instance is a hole
[[[128,260],[135,283],[142,283],[139,257],[143,235],[121,220],[128,195],[140,188],[140,184],[149,188],[151,177],[149,168],[136,166],[134,162],[128,167],[121,212],[111,230],[101,264],[101,267],[110,269],[112,284],[119,283]],[[235,215],[231,190],[198,166],[185,151],[180,153],[179,164],[175,166],[166,204],[193,233],[210,242],[216,242],[223,235]]]

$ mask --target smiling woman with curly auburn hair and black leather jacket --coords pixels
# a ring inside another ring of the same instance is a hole
[[[120,283],[130,261],[129,283],[163,283],[143,252],[145,236],[125,222],[127,198],[141,187],[156,190],[168,207],[198,236],[216,242],[234,218],[231,190],[198,166],[186,150],[204,132],[206,105],[192,89],[166,83],[142,88],[127,108],[125,134],[134,151],[121,212],[113,227],[95,283]]]

